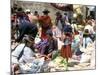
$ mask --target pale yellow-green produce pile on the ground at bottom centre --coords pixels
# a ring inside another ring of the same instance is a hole
[[[57,56],[54,60],[49,62],[48,67],[50,68],[50,72],[66,71],[67,61],[63,57]]]

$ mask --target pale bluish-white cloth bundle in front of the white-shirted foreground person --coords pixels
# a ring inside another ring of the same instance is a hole
[[[32,63],[20,64],[21,73],[39,73],[41,72],[44,58],[35,59]]]

